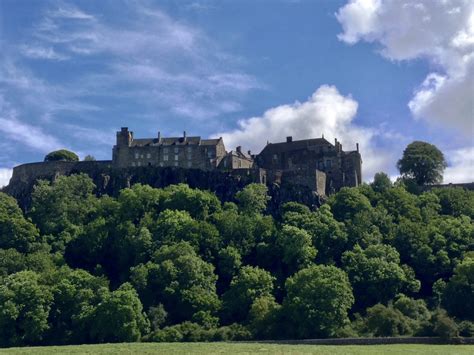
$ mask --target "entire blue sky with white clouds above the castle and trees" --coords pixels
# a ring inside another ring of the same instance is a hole
[[[0,186],[56,149],[111,159],[124,126],[254,153],[324,135],[366,181],[422,140],[474,181],[474,2],[1,0]]]

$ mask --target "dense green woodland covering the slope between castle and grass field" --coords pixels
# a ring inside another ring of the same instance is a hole
[[[187,185],[0,193],[0,345],[473,336],[474,193],[377,174],[317,210],[266,214]]]

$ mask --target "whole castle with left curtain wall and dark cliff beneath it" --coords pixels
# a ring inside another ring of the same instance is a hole
[[[13,168],[8,186],[3,188],[27,210],[31,192],[39,179],[55,180],[60,175],[87,174],[96,194],[116,196],[136,183],[162,188],[186,183],[192,188],[211,190],[222,201],[233,201],[237,191],[250,183],[268,186],[270,209],[296,201],[319,206],[326,196],[344,186],[362,181],[359,146],[344,151],[321,138],[267,143],[259,154],[241,147],[227,151],[222,138],[196,136],[136,139],[123,127],[117,132],[112,160],[48,161]]]

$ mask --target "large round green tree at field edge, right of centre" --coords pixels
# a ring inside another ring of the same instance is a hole
[[[286,280],[283,302],[289,333],[298,338],[328,337],[347,322],[354,303],[351,284],[335,266],[313,265]]]

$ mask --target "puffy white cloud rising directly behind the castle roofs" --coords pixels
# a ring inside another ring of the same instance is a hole
[[[218,133],[232,149],[243,145],[259,152],[268,139],[281,142],[286,136],[307,139],[324,135],[330,142],[337,138],[344,150],[355,150],[360,144],[365,177],[370,178],[387,168],[388,153],[375,147],[377,130],[354,123],[358,103],[344,96],[336,87],[323,85],[308,100],[268,109],[262,116],[243,119],[234,130]]]

